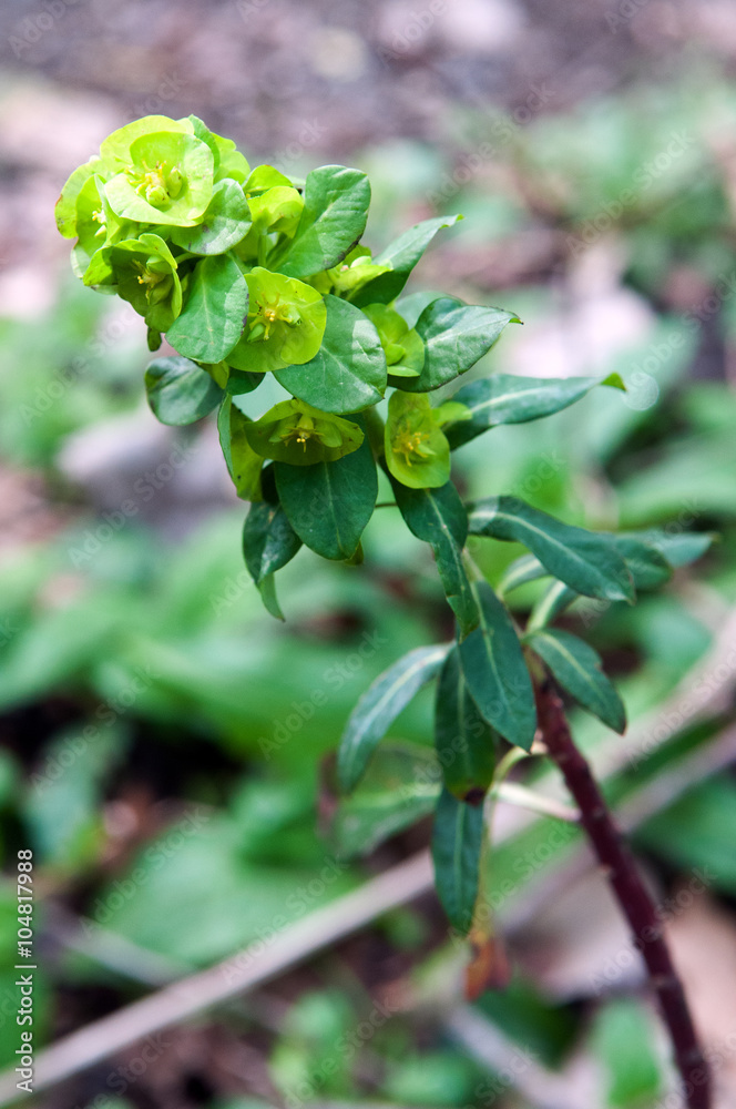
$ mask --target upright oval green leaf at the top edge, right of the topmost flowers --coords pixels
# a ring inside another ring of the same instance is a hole
[[[366,230],[369,204],[370,184],[360,170],[344,165],[313,170],[307,174],[296,235],[278,268],[289,277],[331,269]]]

